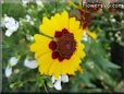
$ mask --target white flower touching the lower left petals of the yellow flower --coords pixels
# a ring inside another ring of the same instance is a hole
[[[36,60],[29,60],[28,58],[25,59],[24,66],[29,69],[36,69],[37,68],[37,61]]]

